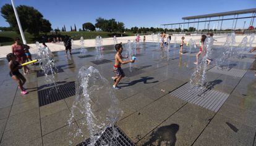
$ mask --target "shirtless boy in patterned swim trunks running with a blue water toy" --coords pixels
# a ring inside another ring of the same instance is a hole
[[[124,71],[121,68],[121,64],[126,64],[126,63],[130,63],[130,62],[134,63],[135,60],[123,61],[122,59],[127,59],[128,57],[122,57],[122,44],[116,44],[116,46],[114,46],[114,47],[116,49],[116,55],[114,57],[114,72],[116,73],[116,76],[112,77],[112,79],[114,80],[113,88],[120,89],[120,87],[117,86],[117,84],[125,76]]]

